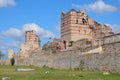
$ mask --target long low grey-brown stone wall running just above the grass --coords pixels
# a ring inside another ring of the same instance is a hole
[[[62,51],[55,54],[34,53],[29,64],[58,69],[83,69],[120,73],[120,43],[103,45],[103,52],[83,54],[80,50]]]

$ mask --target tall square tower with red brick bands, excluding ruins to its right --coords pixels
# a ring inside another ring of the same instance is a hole
[[[77,41],[84,38],[91,38],[90,25],[94,21],[89,19],[84,10],[70,10],[68,13],[61,13],[61,38],[67,41]]]

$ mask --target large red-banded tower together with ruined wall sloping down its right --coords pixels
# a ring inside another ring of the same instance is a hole
[[[61,38],[66,41],[111,35],[112,29],[89,18],[84,10],[61,13]]]

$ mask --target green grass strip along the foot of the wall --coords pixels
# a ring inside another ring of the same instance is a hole
[[[120,74],[103,75],[100,72],[58,70],[34,66],[20,66],[20,68],[34,68],[35,71],[17,72],[15,66],[0,66],[0,79],[9,77],[10,80],[120,80]]]

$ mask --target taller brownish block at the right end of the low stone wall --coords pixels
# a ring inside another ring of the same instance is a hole
[[[102,65],[107,67],[110,72],[120,73],[120,42],[110,43],[103,46]]]

